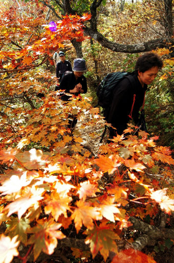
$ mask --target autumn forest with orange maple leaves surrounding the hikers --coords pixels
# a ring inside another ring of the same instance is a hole
[[[172,1],[0,4],[0,262],[170,262]],[[66,107],[54,92],[57,49],[88,67],[88,93]],[[100,143],[98,84],[152,50],[164,67],[146,93],[149,134],[130,125],[126,140]]]

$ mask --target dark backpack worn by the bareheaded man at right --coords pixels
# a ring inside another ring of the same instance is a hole
[[[98,105],[103,108],[107,108],[109,105],[111,105],[112,91],[123,78],[131,75],[132,73],[129,72],[108,73],[97,88]],[[129,81],[131,82],[130,79]]]

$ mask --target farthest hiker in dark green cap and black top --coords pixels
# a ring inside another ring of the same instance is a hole
[[[72,71],[72,66],[71,66],[71,63],[68,60],[66,60],[66,57],[63,51],[60,51],[58,55],[59,55],[60,61],[57,63],[57,66],[56,66],[56,77],[57,77],[57,81],[60,83],[64,72]]]

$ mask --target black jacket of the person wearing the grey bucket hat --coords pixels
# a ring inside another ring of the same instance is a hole
[[[63,78],[61,79],[60,85],[56,86],[55,90],[59,90],[59,89],[64,90],[65,89],[66,93],[70,93],[70,89],[74,89],[74,87],[78,83],[81,84],[82,89],[84,91],[83,93],[86,93],[87,92],[86,78],[82,75],[80,78],[78,78],[76,80],[74,72],[67,72],[66,74],[64,74]],[[73,94],[78,96],[78,94],[80,94],[80,92],[76,92]],[[73,94],[71,93],[71,95],[73,95]],[[70,97],[66,96],[66,95],[61,96],[61,99],[63,101],[68,101],[69,98]]]

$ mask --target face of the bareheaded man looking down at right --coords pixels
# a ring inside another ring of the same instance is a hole
[[[158,70],[159,68],[156,66],[144,72],[138,71],[138,79],[140,83],[149,85],[157,77]]]

